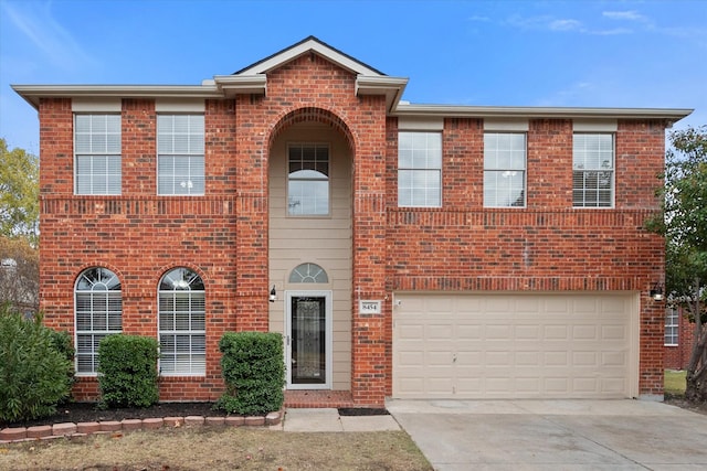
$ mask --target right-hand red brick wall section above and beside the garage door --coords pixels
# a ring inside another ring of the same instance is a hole
[[[388,133],[391,290],[640,291],[640,394],[663,392],[663,239],[643,228],[657,208],[662,124],[620,121],[615,208],[572,208],[572,122],[532,119],[527,208],[483,207],[483,126],[444,125],[442,208],[398,208],[397,132]],[[623,180],[627,180],[625,183]],[[390,387],[390,385],[389,385]]]

